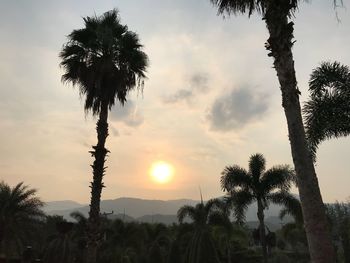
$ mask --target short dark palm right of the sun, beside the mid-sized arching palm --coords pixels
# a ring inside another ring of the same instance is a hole
[[[195,226],[194,234],[189,243],[185,263],[219,263],[217,251],[210,233],[209,224],[213,218],[217,218],[221,213],[217,213],[217,199],[209,200],[206,204],[201,200],[196,206],[185,205],[177,212],[180,223],[189,217]]]

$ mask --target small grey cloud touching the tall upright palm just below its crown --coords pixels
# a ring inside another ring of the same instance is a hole
[[[138,111],[137,106],[132,100],[125,103],[124,106],[116,106],[111,111],[112,121],[122,122],[130,127],[138,127],[144,122],[143,115]]]

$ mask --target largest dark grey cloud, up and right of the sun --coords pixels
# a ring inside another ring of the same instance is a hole
[[[240,88],[217,98],[207,115],[211,130],[242,128],[262,117],[268,109],[268,96],[250,88]]]

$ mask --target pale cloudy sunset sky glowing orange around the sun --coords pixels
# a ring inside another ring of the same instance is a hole
[[[223,195],[224,167],[247,168],[254,153],[264,154],[267,168],[292,165],[259,16],[223,18],[209,0],[0,0],[0,180],[23,181],[44,201],[89,202],[96,119],[85,115],[78,90],[61,82],[58,53],[83,17],[113,8],[139,35],[150,67],[143,92],[110,113],[102,199],[199,199],[199,188],[209,199]],[[350,16],[331,0],[313,1],[301,3],[293,20],[304,102],[321,61],[350,65]],[[349,149],[350,138],[320,145],[325,202],[350,196]],[[149,176],[160,160],[174,167],[167,184]]]

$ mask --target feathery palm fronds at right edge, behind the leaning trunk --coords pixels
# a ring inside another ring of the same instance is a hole
[[[350,134],[350,69],[322,62],[311,73],[310,99],[303,107],[305,130],[314,157],[327,139]]]

